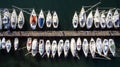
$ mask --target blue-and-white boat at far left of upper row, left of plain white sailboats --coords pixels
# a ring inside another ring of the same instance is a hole
[[[7,8],[3,10],[2,21],[3,21],[4,29],[10,29],[10,12]]]

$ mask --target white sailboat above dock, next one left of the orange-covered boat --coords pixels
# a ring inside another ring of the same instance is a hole
[[[18,15],[18,28],[22,29],[25,23],[25,17],[23,15],[23,11],[21,10]]]

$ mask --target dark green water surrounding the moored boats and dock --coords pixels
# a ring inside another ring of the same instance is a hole
[[[60,25],[58,30],[73,30],[71,19],[74,11],[80,11],[82,5],[93,5],[99,0],[1,0],[1,8],[12,8],[12,5],[21,8],[35,8],[37,13],[40,9],[44,11],[56,10],[60,19]],[[102,4],[99,7],[118,7],[120,8],[120,0],[101,0]],[[29,11],[29,10],[27,10]],[[25,13],[24,13],[25,14]],[[29,27],[29,15],[25,14],[26,19],[23,30],[31,30]],[[38,30],[38,29],[37,29]],[[49,29],[44,29],[49,30]],[[34,37],[50,39],[70,39],[71,37]],[[77,38],[77,37],[75,37]],[[81,37],[90,39],[91,37]],[[116,46],[120,47],[120,37],[101,37],[101,38],[113,38],[116,42]],[[7,39],[11,39],[7,37]],[[20,37],[20,48],[25,46],[26,38]],[[11,39],[13,42],[13,39]],[[25,42],[23,42],[25,41]],[[27,53],[26,49],[20,51],[14,51],[13,47],[10,53],[6,53],[5,50],[0,51],[0,67],[117,67],[120,66],[120,58],[112,58],[109,60],[97,60],[92,59],[91,56],[85,58],[83,52],[79,52],[80,60],[73,58],[69,52],[69,57],[47,59],[41,58],[37,55],[33,58],[31,55],[24,56]],[[119,52],[120,53],[120,52]],[[63,54],[62,54],[63,55]]]

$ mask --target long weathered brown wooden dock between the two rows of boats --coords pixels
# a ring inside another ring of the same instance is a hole
[[[0,32],[0,37],[120,36],[120,31],[13,31]]]

